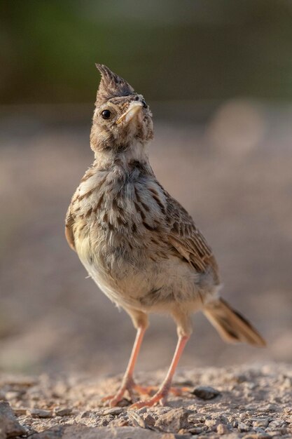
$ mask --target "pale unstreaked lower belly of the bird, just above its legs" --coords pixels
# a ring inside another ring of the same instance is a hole
[[[144,257],[143,263],[115,261],[111,270],[104,266],[102,258],[89,260],[88,239],[77,248],[81,262],[100,290],[118,306],[141,311],[168,311],[176,304],[186,302],[192,308],[200,308],[202,299],[213,295],[212,288],[202,288],[202,275],[181,259],[169,256],[154,262]]]

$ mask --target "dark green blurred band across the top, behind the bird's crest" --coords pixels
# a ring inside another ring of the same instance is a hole
[[[109,65],[151,100],[292,98],[291,0],[1,0],[1,103],[92,102]]]

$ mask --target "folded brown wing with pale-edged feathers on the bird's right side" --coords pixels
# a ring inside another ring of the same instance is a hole
[[[204,236],[197,229],[188,212],[167,194],[167,224],[169,226],[168,241],[193,267],[203,273],[210,266],[216,277],[218,266]]]

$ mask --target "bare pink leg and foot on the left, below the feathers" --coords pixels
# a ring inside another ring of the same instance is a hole
[[[137,335],[136,339],[134,341],[134,346],[132,348],[132,353],[130,356],[129,363],[127,365],[127,369],[125,371],[125,375],[123,377],[122,384],[120,385],[120,389],[118,390],[118,393],[116,393],[115,396],[108,396],[104,398],[103,400],[109,400],[110,407],[114,407],[119,403],[120,400],[123,399],[125,391],[128,391],[130,393],[130,396],[132,396],[132,389],[136,387],[136,384],[133,379],[133,372],[134,367],[137,361],[137,357],[140,351],[141,343],[144,337],[146,331],[146,326],[140,326],[137,329]],[[139,387],[139,386],[137,386]]]

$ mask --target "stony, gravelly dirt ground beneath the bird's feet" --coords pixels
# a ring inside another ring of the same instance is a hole
[[[157,385],[163,374],[137,378]],[[287,365],[180,370],[174,384],[190,391],[170,397],[165,407],[139,410],[130,410],[126,398],[123,407],[104,407],[102,396],[117,389],[120,377],[4,374],[0,380],[1,439],[292,437],[292,367]]]

